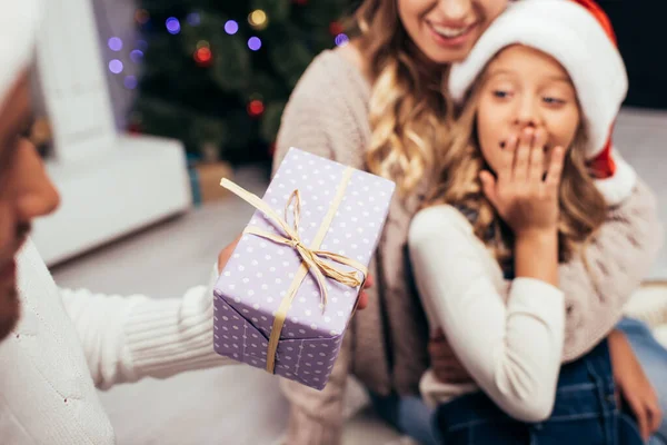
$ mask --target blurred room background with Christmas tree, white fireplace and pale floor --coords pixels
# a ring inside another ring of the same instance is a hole
[[[38,47],[33,136],[62,207],[36,224],[34,241],[66,287],[175,297],[207,283],[252,214],[220,178],[263,194],[290,91],[317,53],[347,43],[344,18],[359,0],[56,3],[47,3]],[[667,220],[661,16],[636,2],[600,3],[630,77],[616,142]],[[667,280],[665,249],[647,279]],[[272,444],[287,415],[273,377],[245,367],[102,397],[128,445]],[[365,402],[352,390],[350,412]],[[398,439],[368,413],[346,433],[346,444]]]

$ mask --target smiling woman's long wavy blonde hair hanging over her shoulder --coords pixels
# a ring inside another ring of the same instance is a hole
[[[369,171],[397,184],[405,197],[432,176],[437,147],[448,132],[446,68],[434,67],[407,34],[396,0],[365,0],[351,33],[374,79]]]

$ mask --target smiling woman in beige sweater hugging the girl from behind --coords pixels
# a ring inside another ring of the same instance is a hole
[[[355,16],[351,44],[318,56],[292,92],[278,136],[276,166],[295,146],[389,177],[399,192],[371,265],[376,286],[370,305],[354,320],[329,385],[317,393],[285,384],[292,404],[290,445],[340,442],[349,372],[368,387],[385,418],[420,442],[432,443],[430,411],[417,396],[429,364],[428,332],[406,267],[407,231],[430,181],[430,166],[447,138],[450,106],[442,93],[447,69],[468,55],[507,3],[366,0]],[[609,332],[619,318],[657,253],[655,207],[653,195],[640,182],[608,222],[617,228],[608,236],[624,246],[618,249],[624,255],[608,258],[614,274],[601,293],[584,265],[559,269],[567,277],[565,359],[591,346],[587,329],[603,324]],[[651,218],[634,217],[636,212]],[[604,249],[609,241],[603,239],[593,250]],[[599,265],[590,266],[594,275],[601,273]],[[605,314],[616,315],[608,320],[590,317],[603,306]]]

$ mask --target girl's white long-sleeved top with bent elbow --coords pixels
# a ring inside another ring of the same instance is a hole
[[[439,383],[421,390],[431,404],[481,388],[501,409],[540,422],[552,409],[565,336],[564,294],[534,278],[506,283],[498,263],[451,206],[417,214],[410,257],[431,330],[448,342],[479,385]]]

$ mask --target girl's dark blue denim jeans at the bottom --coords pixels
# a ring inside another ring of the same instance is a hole
[[[434,417],[447,445],[641,445],[635,421],[619,412],[607,340],[564,365],[548,419],[509,417],[484,393],[440,405]]]

